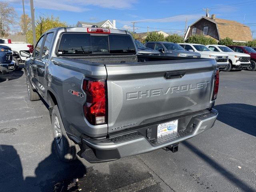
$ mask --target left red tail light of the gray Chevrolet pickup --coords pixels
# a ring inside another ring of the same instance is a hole
[[[84,116],[92,125],[106,123],[106,82],[104,80],[84,80],[86,92]]]

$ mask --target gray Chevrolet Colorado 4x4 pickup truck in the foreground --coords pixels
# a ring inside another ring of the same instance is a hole
[[[25,70],[28,96],[48,104],[56,151],[66,162],[175,152],[218,115],[215,60],[138,55],[122,30],[49,30]]]

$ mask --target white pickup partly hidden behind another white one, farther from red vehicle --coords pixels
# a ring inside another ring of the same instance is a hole
[[[218,53],[211,51],[208,47],[201,44],[190,44],[190,43],[180,43],[180,45],[188,51],[198,52],[201,54],[202,58],[213,58],[217,62],[217,66],[221,70],[226,70],[228,68],[228,54]]]

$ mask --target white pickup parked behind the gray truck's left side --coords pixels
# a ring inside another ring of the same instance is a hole
[[[10,39],[0,39],[0,45],[6,45],[12,49],[13,60],[16,66],[21,67],[20,64],[23,64],[27,57],[21,55],[21,51],[27,52],[28,54],[32,53],[31,44],[27,43],[12,43]],[[30,52],[31,51],[31,52]]]

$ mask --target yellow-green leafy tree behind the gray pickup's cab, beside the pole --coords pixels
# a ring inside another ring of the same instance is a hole
[[[60,18],[54,16],[40,16],[38,20],[36,20],[36,41],[40,38],[40,36],[55,27],[66,27],[66,22],[61,22]],[[32,30],[29,30],[27,33],[28,43],[33,44],[33,33]]]

